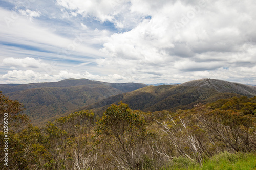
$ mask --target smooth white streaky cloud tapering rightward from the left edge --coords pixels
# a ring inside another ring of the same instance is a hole
[[[83,44],[78,34],[74,38],[57,35],[51,28],[41,27],[37,22],[30,22],[15,12],[0,7],[0,38],[4,42],[27,45],[37,51],[50,51],[54,53],[80,53],[87,56],[104,56],[98,49]]]

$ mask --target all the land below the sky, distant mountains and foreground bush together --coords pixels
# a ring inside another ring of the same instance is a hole
[[[256,86],[68,79],[1,87],[8,169],[256,167]]]

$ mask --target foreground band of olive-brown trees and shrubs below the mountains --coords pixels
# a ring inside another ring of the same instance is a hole
[[[205,162],[220,157],[233,164],[229,169],[245,166],[237,165],[242,158],[247,169],[256,167],[256,96],[175,111],[133,110],[119,101],[102,116],[81,110],[42,127],[31,124],[23,110],[0,93],[0,138],[5,113],[9,138],[8,166],[0,145],[2,169],[215,169]]]

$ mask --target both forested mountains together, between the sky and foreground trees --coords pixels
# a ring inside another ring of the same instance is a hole
[[[24,113],[36,125],[80,110],[93,110],[101,116],[107,107],[120,101],[134,110],[154,112],[190,109],[197,103],[234,96],[256,96],[256,86],[217,79],[158,86],[67,79],[52,83],[2,84],[0,91],[23,103]]]

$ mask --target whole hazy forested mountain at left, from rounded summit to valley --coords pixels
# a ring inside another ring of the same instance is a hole
[[[99,102],[112,95],[145,87],[138,83],[106,83],[67,79],[51,83],[2,84],[0,91],[23,103],[32,123],[40,124],[56,115]]]

